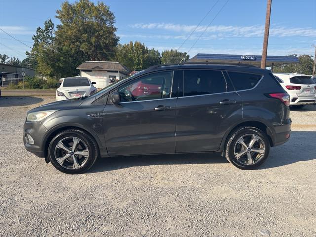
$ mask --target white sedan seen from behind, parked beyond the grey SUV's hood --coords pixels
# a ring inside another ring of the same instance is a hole
[[[65,78],[56,90],[56,100],[67,100],[92,95],[97,91],[97,88],[93,86],[94,84],[95,82],[91,82],[85,77]]]

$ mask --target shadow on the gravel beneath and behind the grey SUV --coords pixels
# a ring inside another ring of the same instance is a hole
[[[270,156],[258,169],[290,165],[316,159],[316,132],[293,131],[290,140],[270,150]],[[314,149],[313,149],[314,148]],[[220,153],[168,154],[99,158],[88,171],[97,173],[134,166],[228,163]],[[231,168],[234,168],[233,166]]]

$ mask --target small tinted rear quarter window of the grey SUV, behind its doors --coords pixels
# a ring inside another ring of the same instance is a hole
[[[248,90],[255,87],[262,75],[252,73],[228,72],[236,90]]]

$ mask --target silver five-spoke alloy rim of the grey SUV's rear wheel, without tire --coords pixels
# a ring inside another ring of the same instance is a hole
[[[246,134],[239,137],[234,146],[235,158],[243,165],[253,165],[265,155],[265,143],[255,134]]]

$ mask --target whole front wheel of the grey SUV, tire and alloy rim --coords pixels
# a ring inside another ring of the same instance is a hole
[[[67,174],[79,174],[92,167],[98,157],[97,144],[84,131],[70,129],[57,134],[48,147],[53,166]]]

